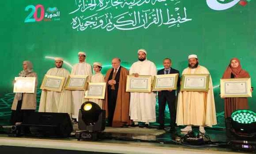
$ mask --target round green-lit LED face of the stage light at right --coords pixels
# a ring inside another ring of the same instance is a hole
[[[251,110],[237,110],[231,114],[234,121],[242,124],[251,124],[256,122],[256,113]]]

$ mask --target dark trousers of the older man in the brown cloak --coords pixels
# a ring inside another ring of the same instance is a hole
[[[117,90],[108,90],[108,124],[112,126],[113,117],[116,109]]]

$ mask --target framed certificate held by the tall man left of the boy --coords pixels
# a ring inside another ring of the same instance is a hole
[[[87,87],[88,75],[69,75],[65,89],[85,90]]]

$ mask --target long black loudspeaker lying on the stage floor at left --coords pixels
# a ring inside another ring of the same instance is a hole
[[[73,131],[68,113],[31,112],[23,117],[23,130],[42,137],[69,137]]]

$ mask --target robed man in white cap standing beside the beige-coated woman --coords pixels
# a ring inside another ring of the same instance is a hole
[[[56,67],[47,71],[46,75],[65,77],[64,85],[69,77],[69,71],[62,68],[63,58],[55,58]],[[68,113],[71,116],[71,91],[61,92],[42,90],[38,112]]]

